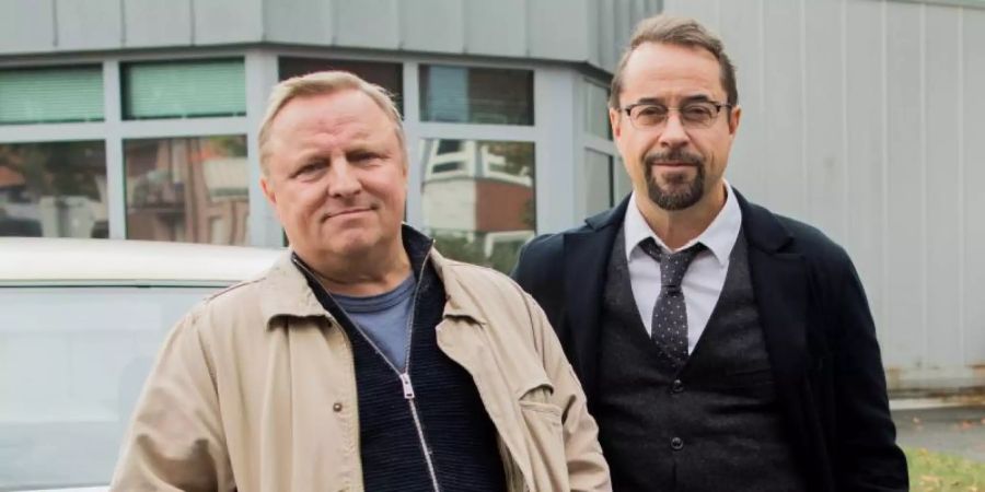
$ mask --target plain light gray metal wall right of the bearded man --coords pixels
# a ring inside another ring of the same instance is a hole
[[[879,0],[672,0],[738,66],[729,176],[855,259],[888,367],[985,366],[985,9]]]

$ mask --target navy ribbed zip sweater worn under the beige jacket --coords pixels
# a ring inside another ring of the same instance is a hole
[[[308,278],[318,302],[339,320],[352,345],[366,490],[434,491],[425,447],[431,454],[441,491],[506,490],[496,429],[475,384],[463,367],[438,348],[434,328],[443,317],[445,292],[427,259],[431,239],[404,226],[404,247],[418,282],[407,360],[412,399],[406,397],[406,386],[396,368],[318,282]]]

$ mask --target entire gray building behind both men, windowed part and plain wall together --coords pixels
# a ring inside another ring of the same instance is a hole
[[[981,0],[0,0],[0,235],[281,246],[266,95],[343,69],[397,97],[407,222],[508,270],[628,191],[607,84],[661,11],[725,38],[728,177],[848,249],[891,386],[985,386]]]

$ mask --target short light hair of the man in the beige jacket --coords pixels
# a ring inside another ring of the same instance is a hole
[[[264,114],[259,131],[260,169],[264,174],[267,173],[267,144],[270,140],[270,127],[274,125],[274,118],[288,103],[298,97],[335,94],[349,90],[370,96],[376,106],[383,109],[383,113],[393,121],[401,147],[404,147],[404,125],[401,112],[393,103],[393,95],[389,91],[349,72],[338,70],[314,72],[285,80],[270,91],[270,97],[267,98],[267,110]]]

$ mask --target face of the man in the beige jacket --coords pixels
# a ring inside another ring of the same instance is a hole
[[[394,122],[368,95],[294,98],[267,145],[260,185],[302,259],[355,259],[399,241],[406,155]]]

